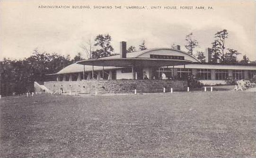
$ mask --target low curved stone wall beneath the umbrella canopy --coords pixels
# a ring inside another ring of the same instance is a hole
[[[123,93],[159,93],[184,91],[186,80],[81,80],[81,81],[48,81],[44,86],[56,92],[60,89],[64,93],[77,92],[83,94],[123,94]]]

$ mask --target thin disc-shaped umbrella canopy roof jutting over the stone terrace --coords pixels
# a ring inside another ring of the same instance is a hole
[[[151,58],[99,58],[92,60],[78,61],[78,64],[82,65],[94,65],[94,66],[115,66],[115,67],[127,67],[127,66],[174,66],[193,63],[188,60],[174,60],[174,59],[151,59]]]

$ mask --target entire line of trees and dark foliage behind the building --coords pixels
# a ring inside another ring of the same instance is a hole
[[[246,55],[243,56],[241,61],[237,60],[237,50],[225,47],[226,39],[229,34],[227,30],[219,31],[214,36],[212,42],[212,61],[222,63],[248,63],[249,59]],[[50,79],[46,74],[56,73],[66,66],[76,61],[86,59],[97,59],[106,56],[115,55],[114,48],[111,45],[111,36],[109,34],[97,35],[94,40],[87,40],[80,45],[83,52],[71,59],[70,55],[63,56],[58,53],[46,53],[39,51],[37,48],[33,51],[32,55],[22,60],[9,60],[4,58],[0,61],[0,95],[9,96],[12,94],[22,94],[28,91],[33,91],[34,81],[41,82]],[[203,52],[195,52],[195,48],[199,46],[197,40],[194,38],[193,33],[185,36],[187,52],[196,56],[200,61],[205,60]],[[147,46],[145,41],[139,45],[139,50],[146,50]],[[170,48],[175,48],[172,44]],[[128,46],[127,53],[137,51],[135,46]],[[251,63],[256,63],[251,61]]]

